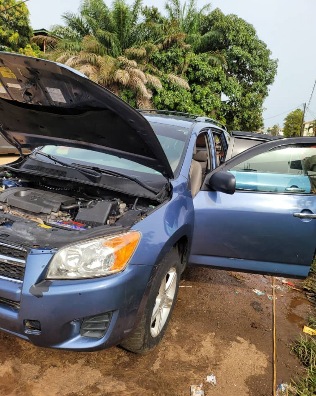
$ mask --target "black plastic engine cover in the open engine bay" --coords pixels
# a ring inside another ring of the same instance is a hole
[[[58,212],[61,205],[76,203],[75,198],[35,188],[11,187],[0,194],[0,202],[32,213]]]

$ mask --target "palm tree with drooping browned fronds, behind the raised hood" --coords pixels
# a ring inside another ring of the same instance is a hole
[[[158,47],[140,40],[137,29],[141,0],[129,6],[114,0],[112,7],[103,0],[84,0],[77,14],[65,13],[65,26],[51,29],[46,40],[50,60],[72,67],[117,95],[130,90],[137,107],[151,108],[152,89],[162,89],[162,72],[150,63]],[[165,76],[172,84],[189,89],[188,83],[173,74]]]

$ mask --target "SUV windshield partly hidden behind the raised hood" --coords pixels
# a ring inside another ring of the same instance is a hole
[[[177,168],[181,166],[189,129],[156,122],[150,122],[150,125],[164,149],[173,173],[175,173]],[[41,151],[52,156],[61,157],[64,160],[69,159],[69,162],[82,162],[93,164],[100,168],[120,170],[123,171],[122,173],[142,179],[146,179],[146,174],[162,177],[161,173],[154,169],[112,154],[67,146],[44,146]]]

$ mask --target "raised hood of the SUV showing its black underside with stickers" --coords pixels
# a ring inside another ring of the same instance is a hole
[[[127,158],[172,179],[148,121],[65,65],[0,52],[0,132],[17,148],[87,148]]]

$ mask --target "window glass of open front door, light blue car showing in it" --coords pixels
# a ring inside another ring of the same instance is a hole
[[[230,172],[239,190],[313,194],[316,146],[276,148],[235,165]]]

